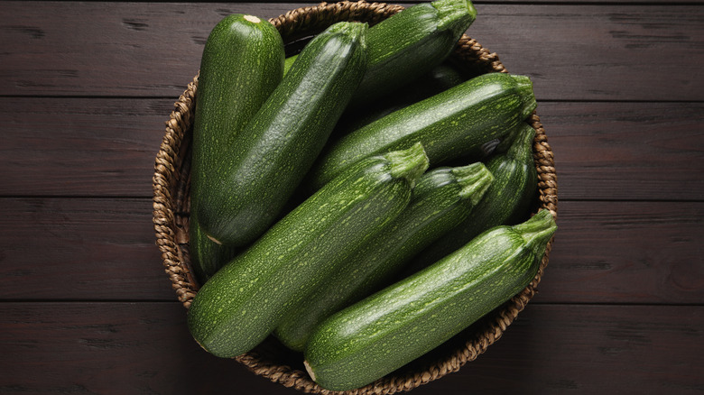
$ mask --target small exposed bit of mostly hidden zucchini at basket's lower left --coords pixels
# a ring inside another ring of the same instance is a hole
[[[225,263],[235,257],[237,249],[213,242],[200,228],[195,212],[189,218],[190,268],[199,284],[204,284]]]

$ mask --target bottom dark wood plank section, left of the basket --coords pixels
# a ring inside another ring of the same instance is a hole
[[[0,311],[4,394],[292,393],[203,352],[178,303],[0,303]]]

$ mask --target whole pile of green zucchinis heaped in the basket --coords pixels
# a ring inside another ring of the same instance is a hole
[[[502,305],[556,230],[537,179],[529,78],[447,62],[467,0],[340,22],[285,59],[267,21],[210,32],[193,126],[188,314],[209,353],[274,335],[351,390]]]

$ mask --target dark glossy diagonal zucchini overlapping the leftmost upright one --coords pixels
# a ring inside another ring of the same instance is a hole
[[[213,240],[246,245],[280,216],[364,75],[366,29],[341,22],[316,36],[239,133],[199,211]]]

